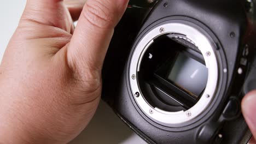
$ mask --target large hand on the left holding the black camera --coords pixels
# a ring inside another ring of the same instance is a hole
[[[0,143],[67,143],[94,115],[128,0],[27,0],[0,66]],[[69,11],[68,11],[69,10]]]

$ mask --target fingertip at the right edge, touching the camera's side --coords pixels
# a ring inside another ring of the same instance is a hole
[[[242,100],[242,113],[253,134],[256,137],[256,91],[249,92]]]

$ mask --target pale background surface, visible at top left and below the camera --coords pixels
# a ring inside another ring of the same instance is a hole
[[[37,0],[34,0],[37,1]],[[43,1],[43,0],[42,0]],[[5,47],[18,26],[19,18],[26,4],[25,0],[1,1],[0,4],[0,61]],[[101,104],[88,127],[71,144],[78,143],[146,143],[134,134],[112,110],[101,101]]]

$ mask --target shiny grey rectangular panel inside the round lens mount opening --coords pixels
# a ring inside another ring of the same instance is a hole
[[[184,53],[178,53],[173,61],[170,71],[166,71],[166,79],[194,97],[200,97],[208,78],[206,66]]]

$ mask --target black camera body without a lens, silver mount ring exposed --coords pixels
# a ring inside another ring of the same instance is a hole
[[[253,11],[244,0],[130,1],[102,99],[148,143],[247,143],[240,102],[256,87]]]

